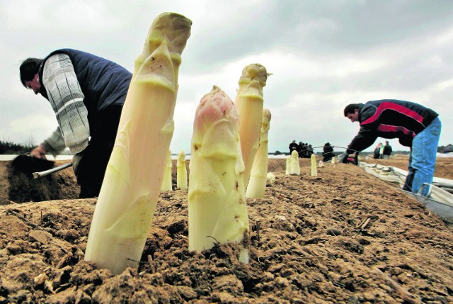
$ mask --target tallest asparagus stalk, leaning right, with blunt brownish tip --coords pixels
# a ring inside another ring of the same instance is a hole
[[[159,15],[135,62],[85,254],[86,261],[113,274],[137,268],[151,227],[173,136],[180,55],[191,24],[177,13]]]

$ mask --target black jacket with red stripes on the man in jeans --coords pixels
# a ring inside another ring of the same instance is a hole
[[[359,133],[348,145],[348,153],[362,151],[371,146],[377,137],[398,138],[401,145],[412,147],[415,135],[439,114],[430,108],[411,101],[383,99],[359,104]]]

